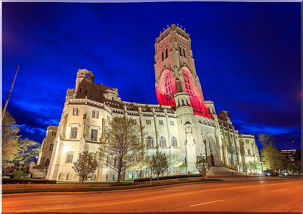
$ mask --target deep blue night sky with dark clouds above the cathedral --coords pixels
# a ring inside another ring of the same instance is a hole
[[[2,2],[2,105],[22,138],[42,142],[57,125],[79,68],[122,100],[157,104],[154,44],[186,28],[206,100],[239,133],[268,132],[301,148],[300,2]]]

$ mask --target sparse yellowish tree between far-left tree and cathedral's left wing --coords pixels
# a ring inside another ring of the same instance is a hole
[[[33,140],[29,140],[28,138],[25,138],[24,140],[18,140],[18,155],[15,158],[15,162],[20,165],[20,169],[25,164],[30,163],[32,159],[39,154],[40,147],[40,143]]]

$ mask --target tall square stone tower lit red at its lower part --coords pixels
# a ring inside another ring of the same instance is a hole
[[[185,28],[163,29],[155,43],[156,96],[160,105],[192,107],[193,114],[213,119],[206,106]]]

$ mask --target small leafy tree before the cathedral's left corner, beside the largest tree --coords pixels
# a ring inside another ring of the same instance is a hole
[[[81,188],[85,178],[92,177],[93,174],[99,165],[99,162],[95,158],[94,153],[90,153],[87,150],[79,154],[79,158],[76,162],[73,162],[74,166],[72,169],[77,173],[78,176],[82,178]]]

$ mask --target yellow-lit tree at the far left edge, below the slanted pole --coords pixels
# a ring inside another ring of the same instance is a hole
[[[14,165],[18,155],[19,131],[15,119],[6,111],[2,119],[2,169]]]

